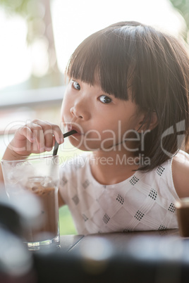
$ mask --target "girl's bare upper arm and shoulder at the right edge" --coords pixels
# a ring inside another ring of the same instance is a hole
[[[189,154],[178,151],[172,161],[173,183],[179,198],[189,197]]]

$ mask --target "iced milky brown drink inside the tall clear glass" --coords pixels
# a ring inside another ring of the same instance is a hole
[[[53,239],[59,229],[57,187],[51,182],[50,177],[32,177],[28,179],[26,189],[37,196],[42,204],[42,210],[39,215],[39,227],[28,229],[25,240],[35,242]]]

